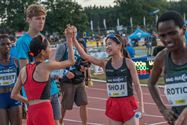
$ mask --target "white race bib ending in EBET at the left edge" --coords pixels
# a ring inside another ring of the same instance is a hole
[[[14,84],[16,80],[16,73],[0,74],[0,86],[8,86]]]

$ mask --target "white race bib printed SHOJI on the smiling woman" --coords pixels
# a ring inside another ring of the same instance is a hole
[[[128,96],[127,82],[107,83],[107,92],[109,97]]]

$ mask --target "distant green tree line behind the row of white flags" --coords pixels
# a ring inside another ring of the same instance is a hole
[[[143,26],[143,17],[146,18],[147,25],[153,25],[155,15],[153,11],[159,9],[160,13],[168,8],[167,0],[115,0],[114,7],[87,7],[85,12],[88,20],[93,20],[95,28],[100,26],[104,28],[102,20],[106,19],[108,28],[115,28],[117,19],[120,25],[130,27],[130,17],[133,20],[133,26]],[[98,23],[99,22],[99,23]]]

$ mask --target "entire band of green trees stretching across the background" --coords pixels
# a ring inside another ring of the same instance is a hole
[[[186,0],[115,0],[113,7],[86,8],[82,8],[74,0],[1,0],[0,27],[13,31],[27,29],[25,9],[32,3],[41,3],[47,8],[44,32],[59,34],[62,34],[68,23],[76,25],[80,33],[90,31],[91,20],[93,32],[103,33],[103,19],[106,19],[107,29],[110,30],[116,29],[116,21],[119,19],[125,33],[132,33],[137,26],[152,32],[156,15],[171,9],[179,11],[182,15],[187,14]],[[130,26],[130,17],[133,19],[133,27]],[[143,17],[146,18],[146,26],[143,25]]]

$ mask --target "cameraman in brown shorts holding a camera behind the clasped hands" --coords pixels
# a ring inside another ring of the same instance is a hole
[[[83,43],[83,42],[81,42]],[[84,47],[84,45],[82,45]],[[55,59],[57,61],[62,61],[67,59],[69,51],[67,49],[67,44],[60,44],[56,50]],[[82,125],[87,125],[87,94],[85,89],[85,63],[80,57],[76,48],[74,48],[75,65],[64,69],[63,74],[61,74],[60,82],[62,88],[62,103],[61,112],[62,119],[61,124],[67,110],[73,109],[73,104],[80,107],[80,117],[82,120]]]

